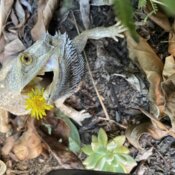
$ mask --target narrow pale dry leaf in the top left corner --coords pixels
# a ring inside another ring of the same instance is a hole
[[[0,36],[4,29],[4,25],[9,17],[14,0],[1,0],[0,1]]]

